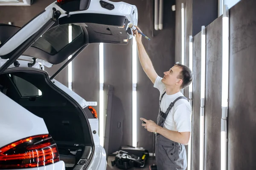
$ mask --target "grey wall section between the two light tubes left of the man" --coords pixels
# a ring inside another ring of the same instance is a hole
[[[113,107],[123,107],[124,110],[122,146],[132,145],[131,48],[132,40],[125,46],[104,44],[104,84],[114,86],[114,95],[122,102],[120,106],[113,103]]]

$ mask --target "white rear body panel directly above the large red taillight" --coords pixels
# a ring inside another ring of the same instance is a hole
[[[29,112],[2,92],[0,101],[0,148],[22,138],[48,134],[44,119]]]

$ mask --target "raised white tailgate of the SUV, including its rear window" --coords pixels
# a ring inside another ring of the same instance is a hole
[[[83,1],[88,3],[88,9],[71,8]],[[127,44],[132,37],[128,25],[137,24],[136,6],[108,3],[114,9],[106,10],[106,6],[100,6],[102,3],[107,2],[70,0],[62,6],[52,3],[22,28],[0,24],[0,58],[14,62],[24,55],[59,64],[90,43]],[[43,17],[49,20],[42,20]],[[0,73],[5,69],[0,68]]]

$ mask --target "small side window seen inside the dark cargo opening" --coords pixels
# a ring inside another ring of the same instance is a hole
[[[28,81],[24,80],[23,78],[17,77],[16,75],[9,75],[16,85],[20,95],[22,97],[32,97],[32,96],[40,96],[42,92],[33,84],[29,83]]]

